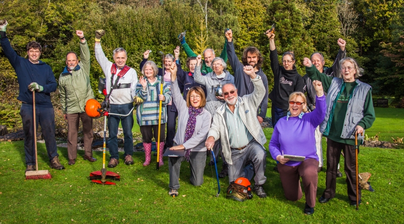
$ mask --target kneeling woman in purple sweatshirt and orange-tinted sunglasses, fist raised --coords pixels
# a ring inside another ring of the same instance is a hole
[[[301,92],[294,92],[289,96],[289,112],[281,118],[274,128],[269,152],[277,160],[278,171],[282,182],[285,197],[296,201],[302,196],[300,177],[306,193],[306,214],[314,213],[319,166],[316,154],[315,129],[324,120],[326,101],[322,83],[314,81],[316,89],[316,109],[311,113],[307,111],[306,97]],[[306,157],[303,162],[289,161],[283,155]]]

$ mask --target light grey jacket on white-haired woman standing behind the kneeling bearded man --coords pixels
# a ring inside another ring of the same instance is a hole
[[[200,65],[195,66],[195,71],[193,73],[193,79],[195,80],[195,82],[206,87],[208,96],[206,96],[205,108],[212,114],[212,117],[215,114],[215,111],[224,103],[224,100],[218,100],[218,98],[216,98],[215,96],[215,93],[212,93],[212,86],[219,84],[224,85],[226,83],[234,84],[234,77],[227,70],[223,70],[223,72],[226,73],[226,76],[221,81],[218,80],[214,71],[209,72],[208,74],[206,74],[206,76],[202,76],[202,74],[200,73]]]

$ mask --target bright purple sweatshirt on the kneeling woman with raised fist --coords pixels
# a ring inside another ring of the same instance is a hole
[[[274,160],[283,154],[302,156],[306,159],[319,160],[316,150],[315,130],[324,120],[326,111],[325,96],[316,96],[316,109],[306,113],[300,119],[297,117],[282,117],[276,123],[271,141],[269,142],[269,152]],[[298,166],[301,162],[289,161],[286,166]]]

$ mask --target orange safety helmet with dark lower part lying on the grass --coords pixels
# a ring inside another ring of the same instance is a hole
[[[226,198],[237,201],[251,199],[251,183],[244,177],[237,178],[237,180],[231,182],[230,186],[227,188]]]

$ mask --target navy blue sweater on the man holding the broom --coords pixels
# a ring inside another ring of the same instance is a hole
[[[0,39],[4,54],[9,59],[17,74],[20,93],[17,100],[32,104],[32,92],[28,90],[30,83],[37,83],[43,87],[43,91],[35,94],[35,103],[38,107],[52,108],[51,93],[56,91],[58,84],[51,66],[43,61],[34,64],[28,58],[18,56],[11,47],[8,38]]]

